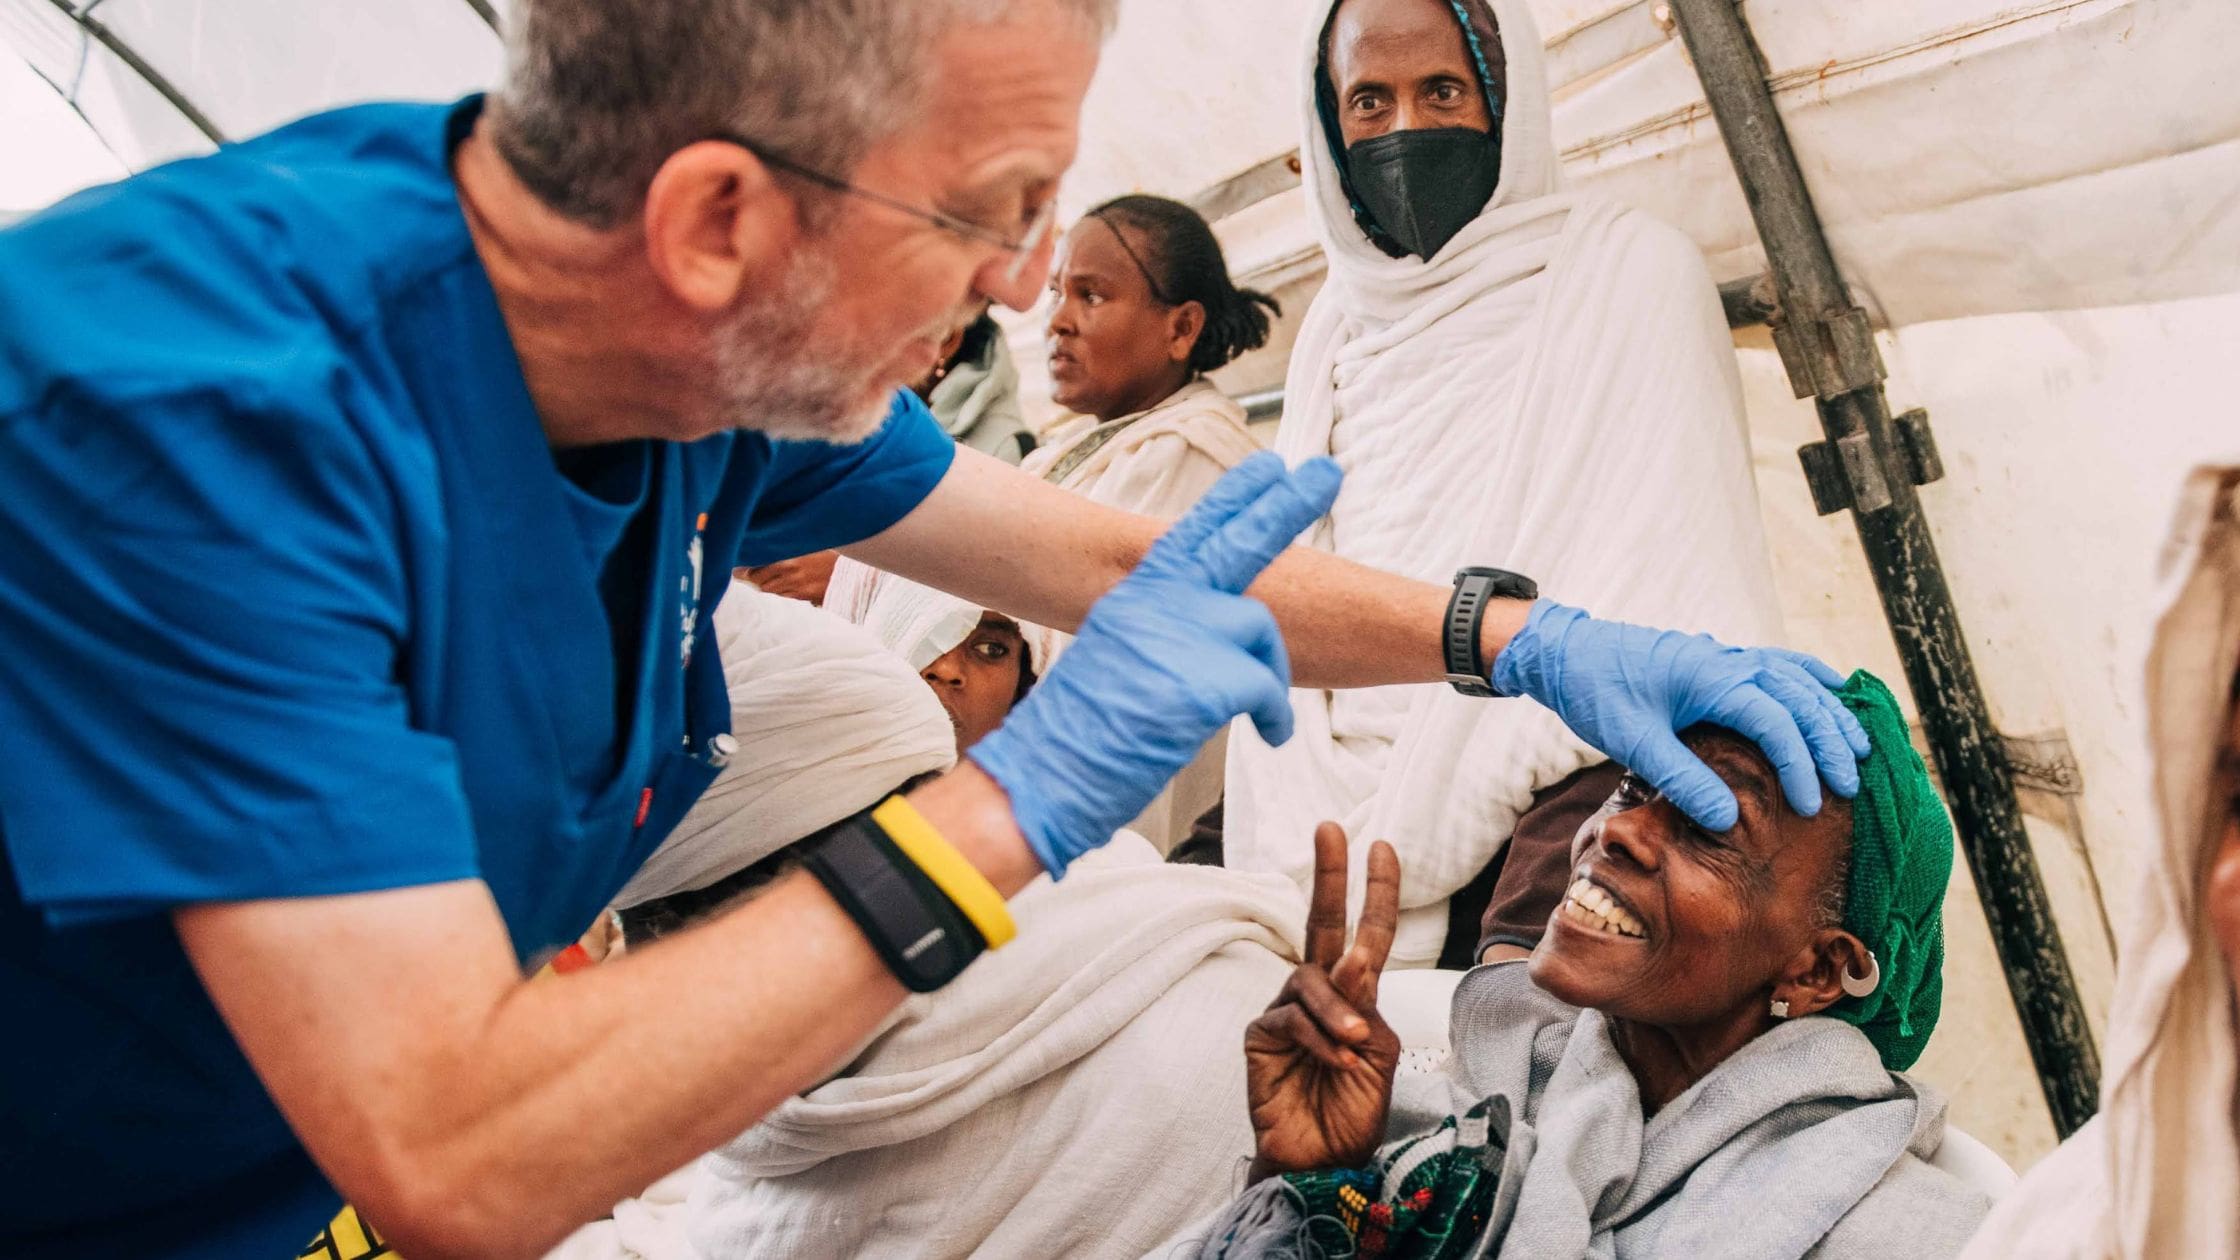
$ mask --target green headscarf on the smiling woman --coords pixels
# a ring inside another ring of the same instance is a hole
[[[1906,715],[1879,677],[1859,670],[1835,693],[1866,726],[1875,751],[1859,762],[1850,803],[1850,897],[1844,928],[1882,962],[1882,984],[1828,1013],[1857,1025],[1884,1067],[1922,1056],[1944,1002],[1944,886],[1953,877],[1953,825],[1913,751]]]

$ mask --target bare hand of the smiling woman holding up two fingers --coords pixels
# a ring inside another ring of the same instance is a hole
[[[1400,1038],[1378,1013],[1378,978],[1400,921],[1400,854],[1369,850],[1369,895],[1346,948],[1346,832],[1315,827],[1315,888],[1301,962],[1245,1027],[1252,1179],[1366,1164],[1384,1139]]]

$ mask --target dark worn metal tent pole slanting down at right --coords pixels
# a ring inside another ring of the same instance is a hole
[[[1812,500],[1823,516],[1848,507],[1859,527],[2045,1105],[2068,1137],[2097,1108],[2099,1051],[2023,827],[2014,769],[1915,495],[1942,475],[1926,417],[1891,415],[1882,352],[1837,271],[1738,0],[1671,0],[1671,11],[1765,240],[1774,345],[1796,397],[1817,401],[1828,433],[1799,453]]]

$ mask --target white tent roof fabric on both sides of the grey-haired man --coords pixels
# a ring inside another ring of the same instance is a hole
[[[1541,31],[1559,31],[1548,45],[1566,177],[1678,224],[1720,278],[1747,276],[1763,260],[1740,188],[1658,9],[1532,0]],[[347,101],[491,85],[504,11],[491,0],[0,0],[0,47],[76,110],[22,126],[9,112],[0,168],[60,173],[72,159],[56,155],[83,150],[87,135],[130,170],[211,148],[87,25],[240,139]],[[1189,195],[1288,152],[1288,49],[1308,11],[1299,0],[1127,0],[1068,209],[1133,188]],[[2240,289],[2240,92],[2229,58],[2204,56],[2240,45],[2240,4],[1749,0],[1745,16],[1837,253],[1891,323]],[[69,130],[76,139],[58,139]],[[52,195],[112,173],[94,164],[25,184]],[[1263,220],[1232,229],[1250,238],[1232,240],[1239,269],[1297,269],[1313,249],[1304,215]]]

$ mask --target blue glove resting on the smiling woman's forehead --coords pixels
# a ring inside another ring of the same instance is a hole
[[[1581,740],[1714,832],[1734,827],[1734,791],[1676,731],[1711,722],[1749,738],[1805,818],[1819,814],[1821,778],[1837,796],[1859,794],[1857,758],[1870,751],[1859,720],[1830,695],[1844,675],[1803,652],[1597,621],[1546,599],[1494,657],[1490,682],[1555,708]]]

